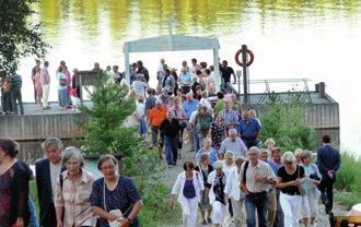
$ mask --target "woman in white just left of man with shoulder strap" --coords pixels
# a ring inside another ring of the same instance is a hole
[[[246,214],[244,210],[244,193],[240,190],[241,166],[245,162],[244,157],[235,159],[235,167],[229,172],[224,188],[225,198],[231,200],[233,208],[234,226],[245,226]]]

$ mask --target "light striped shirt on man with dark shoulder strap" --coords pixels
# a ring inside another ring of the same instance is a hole
[[[243,172],[244,172],[244,165],[242,164],[241,167],[241,182],[243,181]],[[248,164],[248,168],[246,170],[246,188],[252,193],[258,193],[269,190],[269,184],[264,182],[256,182],[255,177],[260,175],[263,178],[271,179],[276,178],[275,172],[272,171],[271,167],[263,162],[258,160],[257,166],[252,166],[251,163]]]

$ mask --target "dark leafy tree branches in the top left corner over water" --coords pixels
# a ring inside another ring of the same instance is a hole
[[[0,0],[0,70],[14,72],[21,57],[45,57],[42,24],[34,22],[37,0]]]

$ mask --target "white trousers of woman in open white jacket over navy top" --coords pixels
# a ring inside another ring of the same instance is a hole
[[[198,199],[186,199],[182,204],[184,227],[197,226]]]

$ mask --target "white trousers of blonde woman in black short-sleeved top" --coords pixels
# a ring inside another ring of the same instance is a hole
[[[302,204],[301,195],[289,195],[281,192],[280,204],[284,215],[284,226],[299,227]]]

